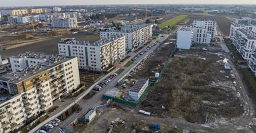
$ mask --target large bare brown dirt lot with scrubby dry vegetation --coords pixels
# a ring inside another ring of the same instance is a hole
[[[223,59],[222,54],[210,52],[174,54],[158,85],[141,102],[141,108],[199,124],[242,116],[242,101],[232,83],[232,72],[224,70]],[[162,105],[165,109],[159,109]]]

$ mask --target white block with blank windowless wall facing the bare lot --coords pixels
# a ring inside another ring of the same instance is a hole
[[[183,26],[177,31],[177,48],[190,49],[193,38],[191,26]]]

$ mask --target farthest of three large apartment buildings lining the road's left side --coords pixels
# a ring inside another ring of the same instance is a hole
[[[148,41],[152,36],[153,25],[141,25],[139,28],[130,30],[108,30],[100,32],[100,38],[108,38],[113,35],[125,36],[126,50],[132,51],[134,48],[141,46],[144,42]]]

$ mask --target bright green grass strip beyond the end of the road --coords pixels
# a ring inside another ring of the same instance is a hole
[[[172,27],[176,26],[179,22],[183,21],[183,19],[185,19],[186,17],[187,17],[187,15],[178,15],[176,17],[173,17],[172,19],[162,22],[158,26],[161,29],[165,28],[166,26],[170,26],[170,28],[172,28]]]

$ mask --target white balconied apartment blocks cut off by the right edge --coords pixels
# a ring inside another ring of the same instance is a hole
[[[250,17],[235,19],[230,27],[229,38],[256,76],[256,19]]]

